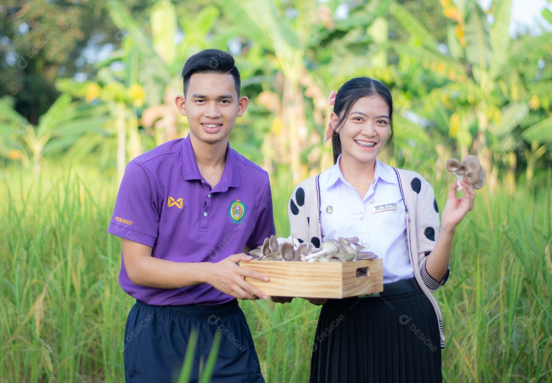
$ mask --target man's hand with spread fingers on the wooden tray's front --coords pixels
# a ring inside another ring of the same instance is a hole
[[[247,276],[268,282],[268,276],[237,265],[238,262],[247,262],[251,259],[253,257],[240,253],[232,254],[220,262],[210,264],[206,275],[206,283],[237,299],[256,300],[261,298],[268,300],[268,295],[245,281]]]

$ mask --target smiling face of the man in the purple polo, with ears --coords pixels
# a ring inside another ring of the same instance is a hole
[[[248,98],[238,98],[232,75],[199,72],[190,77],[186,94],[177,96],[175,102],[188,118],[192,145],[226,145],[236,118],[247,108]]]

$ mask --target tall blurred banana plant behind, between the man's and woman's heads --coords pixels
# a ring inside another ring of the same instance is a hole
[[[327,97],[352,75],[366,75],[386,61],[387,34],[369,27],[386,13],[389,1],[220,1],[232,20],[226,34],[236,37],[260,85],[250,118],[265,115],[263,166],[293,169],[293,182],[331,162],[322,137],[331,110]],[[378,52],[379,56],[372,55]],[[254,135],[254,133],[250,133]]]

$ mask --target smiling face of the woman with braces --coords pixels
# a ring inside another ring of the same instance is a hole
[[[337,126],[339,116],[331,115],[333,126]],[[389,105],[379,95],[359,98],[351,111],[338,126],[341,140],[341,163],[362,167],[374,164],[389,136]]]

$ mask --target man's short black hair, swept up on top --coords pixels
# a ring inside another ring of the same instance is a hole
[[[236,68],[232,55],[218,49],[205,49],[186,60],[182,68],[184,97],[186,97],[186,91],[188,91],[190,77],[192,77],[194,73],[209,72],[232,75],[236,92],[238,97],[240,97],[240,71]]]

